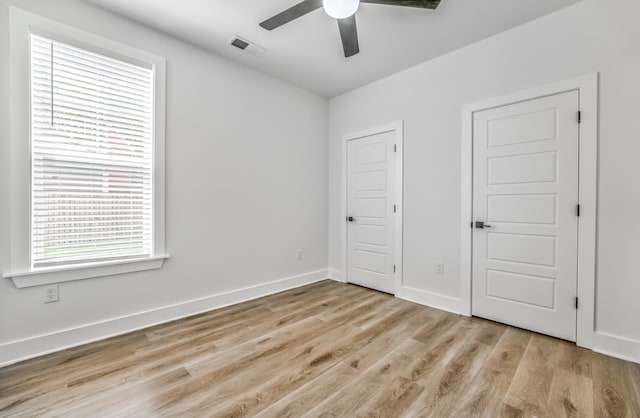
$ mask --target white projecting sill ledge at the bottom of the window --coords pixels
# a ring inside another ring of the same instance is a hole
[[[52,283],[90,279],[93,277],[113,276],[115,274],[159,269],[162,267],[164,260],[168,258],[168,255],[162,255],[134,260],[83,264],[73,267],[5,273],[3,277],[13,280],[13,283],[18,288],[42,286]]]

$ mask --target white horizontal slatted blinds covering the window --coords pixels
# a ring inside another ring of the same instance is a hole
[[[31,36],[33,268],[152,254],[153,78]]]

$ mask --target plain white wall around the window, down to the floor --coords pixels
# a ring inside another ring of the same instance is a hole
[[[182,302],[326,277],[328,101],[75,0],[0,0],[0,271],[10,269],[9,4],[166,57],[171,259],[162,270],[60,284],[60,301],[46,305],[42,288],[0,279],[0,364],[234,296]]]

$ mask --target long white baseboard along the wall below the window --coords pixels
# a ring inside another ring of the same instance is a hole
[[[104,340],[165,322],[175,321],[199,313],[225,306],[257,299],[273,293],[293,289],[325,280],[327,270],[318,270],[256,286],[210,295],[174,305],[163,306],[131,315],[107,319],[44,335],[10,341],[0,344],[0,367],[28,360],[34,357],[77,347],[94,341]]]

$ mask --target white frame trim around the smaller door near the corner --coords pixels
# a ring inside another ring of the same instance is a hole
[[[349,283],[349,270],[347,269],[347,223],[345,219],[347,217],[347,143],[354,139],[360,139],[366,136],[383,134],[387,132],[395,132],[395,144],[396,144],[396,164],[395,164],[395,204],[396,204],[396,216],[394,224],[394,259],[396,265],[396,271],[394,276],[394,295],[397,295],[398,289],[402,287],[402,224],[403,224],[403,164],[404,164],[404,121],[396,121],[386,125],[372,127],[363,131],[347,134],[342,136],[342,207],[340,210],[340,222],[341,222],[341,242],[342,242],[342,265],[344,281]]]

